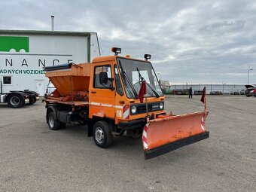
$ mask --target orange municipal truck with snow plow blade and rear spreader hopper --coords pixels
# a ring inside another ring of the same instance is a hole
[[[124,133],[141,137],[146,160],[209,137],[206,108],[191,114],[166,114],[165,96],[148,61],[151,55],[132,59],[118,56],[120,48],[111,50],[114,56],[99,56],[91,63],[44,68],[56,87],[45,96],[50,130],[62,129],[66,123],[87,123],[88,136],[100,148],[108,148],[113,136]]]

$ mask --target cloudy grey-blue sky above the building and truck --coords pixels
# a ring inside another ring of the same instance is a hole
[[[151,62],[171,83],[256,84],[256,1],[2,0],[0,29],[97,32],[102,55]]]

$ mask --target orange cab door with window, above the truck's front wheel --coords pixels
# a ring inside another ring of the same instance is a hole
[[[110,64],[102,64],[93,68],[92,88],[89,92],[90,117],[108,117],[114,119],[114,78]]]

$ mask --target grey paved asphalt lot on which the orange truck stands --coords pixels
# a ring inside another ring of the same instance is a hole
[[[166,96],[166,111],[203,110]],[[207,96],[210,138],[144,160],[141,139],[96,147],[86,126],[51,131],[44,103],[0,105],[0,191],[256,191],[256,98]]]

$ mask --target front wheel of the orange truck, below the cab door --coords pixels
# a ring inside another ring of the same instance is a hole
[[[93,139],[100,148],[108,148],[113,142],[110,127],[105,121],[98,121],[93,126]]]

